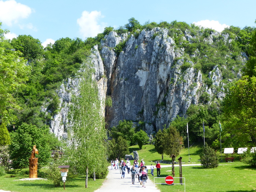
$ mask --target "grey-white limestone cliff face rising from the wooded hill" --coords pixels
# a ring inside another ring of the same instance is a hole
[[[188,42],[194,38],[189,32],[184,34],[183,38]],[[217,35],[211,33],[204,41],[212,43]],[[223,38],[229,41],[227,35]],[[123,41],[127,41],[125,47],[117,55],[115,47]],[[168,125],[177,115],[186,114],[191,104],[199,103],[202,93],[207,93],[208,103],[225,96],[225,84],[218,65],[208,74],[212,85],[205,84],[201,71],[194,68],[192,61],[188,61],[189,67],[182,67],[187,62],[183,57],[184,48],[179,48],[176,43],[168,36],[167,29],[154,28],[140,31],[138,37],[112,31],[102,41],[100,53],[97,47],[94,48],[91,60],[96,69],[99,94],[102,99],[106,94],[112,98],[112,107],[105,108],[107,127],[115,126],[123,119],[134,123],[143,121],[146,132],[151,134],[164,124]],[[244,56],[240,59],[246,60]],[[65,132],[70,95],[77,91],[78,81],[68,79],[58,91],[61,111],[51,121],[52,131],[58,136]]]

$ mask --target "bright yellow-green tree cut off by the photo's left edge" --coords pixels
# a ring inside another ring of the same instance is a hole
[[[24,85],[30,71],[24,59],[19,57],[19,51],[8,48],[10,44],[4,39],[7,32],[1,29],[0,23],[0,121],[6,125],[15,121],[13,112],[20,106],[14,94]]]

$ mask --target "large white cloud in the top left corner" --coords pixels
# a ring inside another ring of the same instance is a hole
[[[0,0],[0,22],[8,26],[18,23],[20,19],[28,18],[32,9],[24,4],[17,3],[15,0]]]

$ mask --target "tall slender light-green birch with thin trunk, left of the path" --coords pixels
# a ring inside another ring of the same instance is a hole
[[[69,129],[70,147],[68,155],[80,174],[86,175],[85,187],[88,187],[88,174],[105,170],[106,131],[98,96],[97,82],[93,79],[93,68],[85,64],[81,74],[80,94],[72,98],[72,126]],[[104,170],[103,170],[104,169]]]

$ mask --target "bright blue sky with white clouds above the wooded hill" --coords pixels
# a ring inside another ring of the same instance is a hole
[[[2,29],[12,39],[31,35],[43,46],[60,38],[86,40],[128,23],[134,17],[140,24],[174,20],[222,31],[229,26],[255,27],[255,0],[0,0]]]

